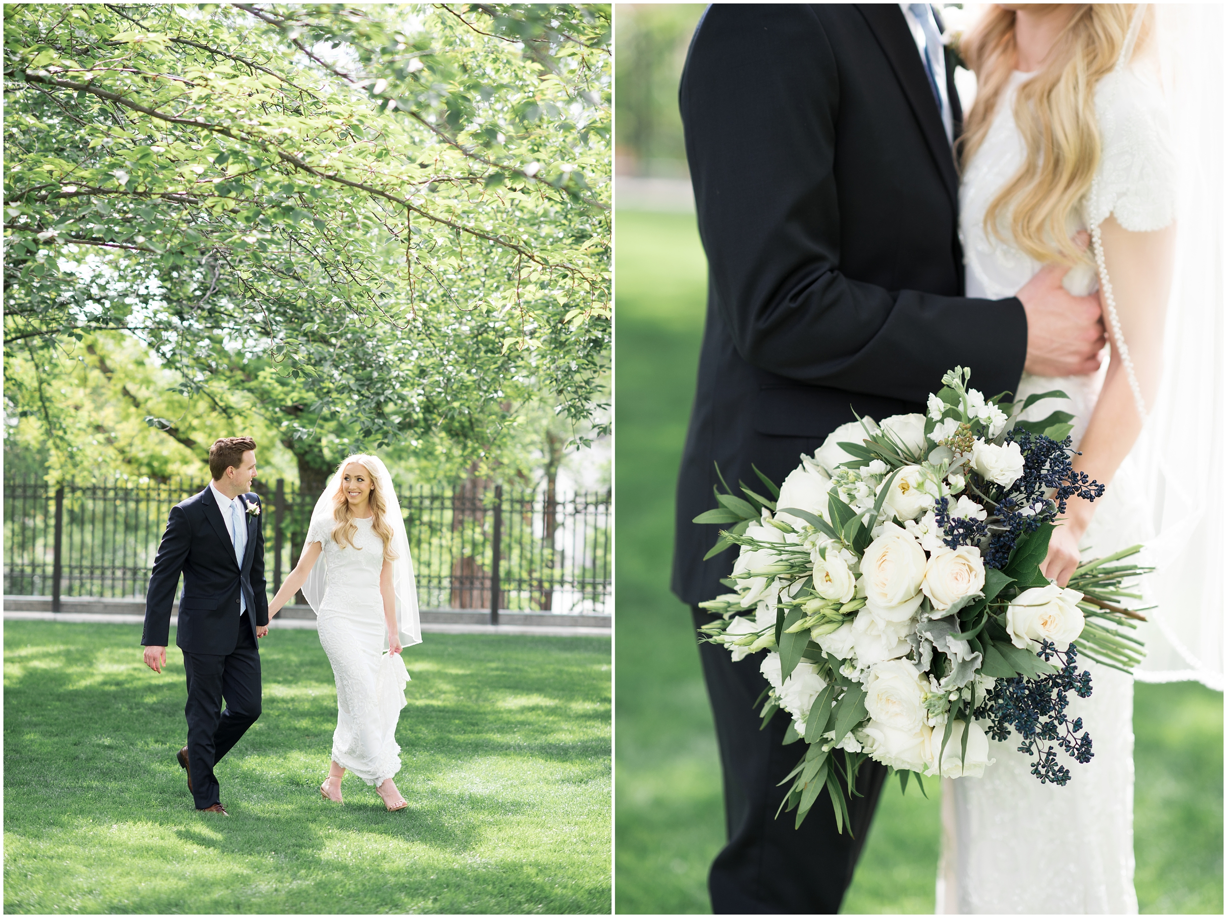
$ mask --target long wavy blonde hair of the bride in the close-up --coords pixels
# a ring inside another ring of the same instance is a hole
[[[1010,239],[1042,263],[1088,264],[1069,232],[1069,218],[1091,190],[1099,167],[1094,88],[1120,58],[1136,4],[1077,4],[1043,69],[1018,86],[1014,119],[1026,146],[1018,172],[989,204],[984,231]],[[1136,55],[1153,25],[1144,14]],[[979,90],[960,139],[966,169],[988,136],[1017,63],[1015,12],[991,6],[963,36],[960,54]],[[1006,232],[1005,227],[1009,227]]]

